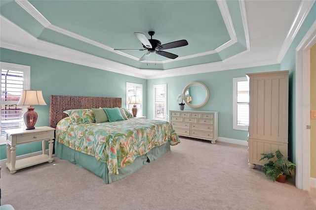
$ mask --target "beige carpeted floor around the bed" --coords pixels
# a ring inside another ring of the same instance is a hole
[[[11,175],[2,165],[1,204],[15,210],[316,210],[315,193],[248,167],[247,147],[181,138],[138,172],[105,184],[54,162]]]

